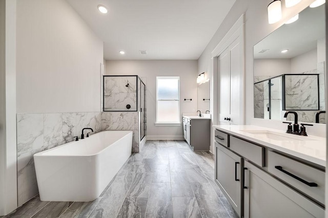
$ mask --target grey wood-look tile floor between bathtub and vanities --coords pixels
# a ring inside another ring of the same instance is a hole
[[[7,217],[237,217],[214,182],[214,157],[182,140],[149,140],[92,202],[34,197]]]

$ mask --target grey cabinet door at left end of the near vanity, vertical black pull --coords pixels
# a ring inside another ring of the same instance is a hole
[[[215,180],[241,217],[241,168],[243,159],[215,142]]]

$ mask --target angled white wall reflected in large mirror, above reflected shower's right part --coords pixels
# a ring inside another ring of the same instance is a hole
[[[302,72],[316,69],[317,63],[317,49],[314,49],[291,59],[291,73],[301,74]]]

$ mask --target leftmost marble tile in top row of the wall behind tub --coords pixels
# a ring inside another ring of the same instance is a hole
[[[44,146],[44,115],[17,114],[17,155]]]

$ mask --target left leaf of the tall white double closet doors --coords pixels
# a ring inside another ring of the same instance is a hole
[[[230,70],[229,70],[229,49],[226,49],[218,57],[218,71],[219,71],[219,124],[228,124],[227,117],[230,115]],[[226,119],[224,119],[226,118]]]

